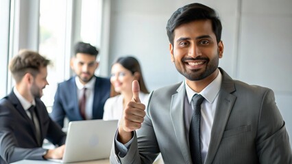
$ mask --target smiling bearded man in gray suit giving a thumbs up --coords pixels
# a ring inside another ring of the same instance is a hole
[[[160,152],[165,163],[292,163],[273,91],[235,81],[218,68],[221,29],[206,5],[173,13],[167,23],[171,61],[185,80],[151,92],[146,111],[133,83],[111,163],[152,163]],[[199,95],[202,104],[194,105]]]

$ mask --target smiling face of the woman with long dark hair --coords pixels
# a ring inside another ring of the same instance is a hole
[[[112,65],[110,83],[114,86],[115,92],[132,92],[132,81],[134,81],[134,79],[136,79],[135,75],[121,64],[117,63]]]

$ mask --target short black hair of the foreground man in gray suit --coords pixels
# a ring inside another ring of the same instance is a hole
[[[184,5],[171,15],[171,18],[169,18],[167,22],[167,36],[169,37],[169,42],[173,44],[173,32],[175,28],[195,20],[211,20],[212,30],[217,38],[217,43],[220,42],[222,32],[220,18],[215,10],[201,3]]]

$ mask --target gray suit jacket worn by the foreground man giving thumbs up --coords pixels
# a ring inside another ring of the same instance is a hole
[[[272,90],[223,75],[205,163],[292,163],[285,123]],[[184,127],[184,83],[151,93],[142,127],[122,157],[113,144],[111,163],[192,163]]]

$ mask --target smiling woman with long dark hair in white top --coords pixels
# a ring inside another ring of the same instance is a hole
[[[141,102],[147,104],[149,92],[143,80],[141,66],[135,57],[119,57],[112,64],[110,83],[112,83],[113,97],[106,100],[104,105],[104,120],[119,120],[127,102],[133,97],[132,81],[137,80],[140,85]]]

